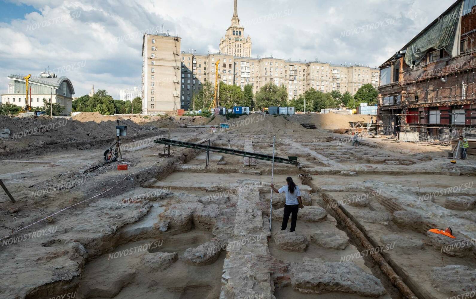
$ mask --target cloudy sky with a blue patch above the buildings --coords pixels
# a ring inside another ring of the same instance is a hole
[[[378,66],[455,0],[238,0],[253,57]],[[233,0],[0,0],[0,93],[10,74],[45,68],[75,96],[92,82],[119,98],[140,86],[142,32],[178,34],[182,51],[218,51]]]

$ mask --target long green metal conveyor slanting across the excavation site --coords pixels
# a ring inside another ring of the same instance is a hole
[[[214,152],[214,153],[221,153],[221,154],[233,154],[236,156],[240,157],[248,157],[250,160],[251,159],[258,159],[258,160],[265,160],[265,161],[273,161],[273,156],[268,155],[268,154],[257,154],[257,153],[251,153],[251,152],[245,152],[245,151],[240,151],[232,148],[226,148],[226,147],[218,147],[218,146],[212,146],[210,145],[210,141],[207,140],[207,144],[198,144],[198,143],[191,143],[191,142],[183,142],[183,141],[178,141],[178,140],[171,140],[171,139],[165,139],[165,138],[159,138],[154,140],[155,143],[157,144],[162,144],[162,145],[168,145],[169,150],[170,146],[179,146],[179,147],[186,147],[186,148],[193,148],[197,150],[202,150],[202,151],[207,151],[207,157],[209,155],[209,152]],[[169,152],[170,153],[170,152]],[[286,159],[286,158],[281,158],[281,157],[274,157],[274,162],[277,163],[284,163],[284,164],[292,164],[292,165],[299,165],[299,162],[297,162],[295,157],[290,157],[291,159]],[[208,165],[208,163],[207,163]]]

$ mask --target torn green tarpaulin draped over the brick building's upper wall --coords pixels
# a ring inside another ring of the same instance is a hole
[[[455,43],[461,5],[463,5],[463,1],[446,13],[446,15],[439,17],[431,28],[408,46],[407,53],[405,53],[407,65],[413,67],[414,64],[418,64],[431,48],[436,50],[444,48],[451,55]]]

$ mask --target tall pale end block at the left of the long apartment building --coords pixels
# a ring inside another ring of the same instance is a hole
[[[180,109],[180,41],[167,34],[142,39],[142,113]]]

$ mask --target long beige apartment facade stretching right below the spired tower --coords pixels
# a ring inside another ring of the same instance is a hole
[[[328,93],[337,90],[354,95],[364,84],[378,86],[378,69],[366,66],[333,65],[323,62],[301,62],[278,58],[234,57],[222,53],[195,54],[182,51],[180,106],[193,108],[193,95],[198,95],[205,80],[215,84],[215,63],[218,80],[244,88],[251,84],[256,94],[268,83],[284,85],[288,100],[310,88]],[[368,77],[367,77],[368,76]],[[197,109],[198,110],[198,109]]]

